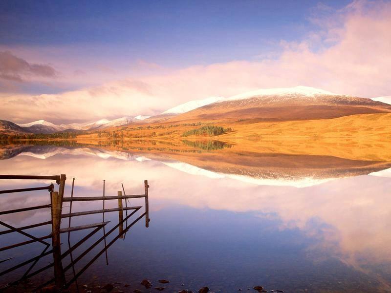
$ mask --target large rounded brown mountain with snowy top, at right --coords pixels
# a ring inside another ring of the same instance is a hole
[[[391,105],[306,86],[261,89],[176,115],[179,121],[287,121],[391,112]]]

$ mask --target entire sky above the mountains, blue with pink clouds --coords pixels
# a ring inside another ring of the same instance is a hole
[[[391,93],[391,1],[0,2],[0,119],[155,115],[306,85]]]

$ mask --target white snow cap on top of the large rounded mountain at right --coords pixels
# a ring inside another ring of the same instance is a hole
[[[250,92],[246,92],[230,97],[227,100],[241,100],[241,99],[251,98],[254,96],[294,95],[294,94],[300,94],[308,97],[314,95],[333,95],[333,96],[336,95],[335,93],[323,89],[298,85],[294,87],[262,88],[255,91],[250,91]]]

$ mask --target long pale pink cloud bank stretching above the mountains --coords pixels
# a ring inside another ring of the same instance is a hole
[[[296,85],[369,98],[390,95],[391,3],[354,1],[337,11],[318,10],[323,12],[311,15],[317,29],[301,41],[282,40],[278,57],[260,52],[261,60],[147,70],[58,95],[3,94],[0,116],[56,122],[154,115],[190,100]]]

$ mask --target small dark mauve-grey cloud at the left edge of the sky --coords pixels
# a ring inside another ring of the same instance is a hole
[[[28,63],[13,55],[10,51],[0,52],[0,78],[8,81],[22,82],[24,77],[56,77],[53,67],[44,64]]]

